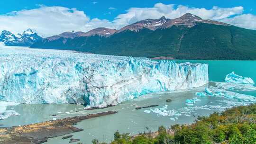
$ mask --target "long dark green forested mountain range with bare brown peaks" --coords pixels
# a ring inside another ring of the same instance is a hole
[[[112,32],[45,38],[30,47],[151,58],[256,60],[255,30],[190,13],[174,19],[146,19]]]

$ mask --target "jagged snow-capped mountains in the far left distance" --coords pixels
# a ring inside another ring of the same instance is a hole
[[[30,46],[37,41],[43,40],[43,37],[38,36],[34,29],[28,28],[22,34],[12,34],[7,30],[3,30],[0,35],[0,42],[9,46]]]

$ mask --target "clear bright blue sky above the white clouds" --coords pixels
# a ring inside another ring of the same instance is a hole
[[[84,11],[90,18],[113,20],[131,7],[153,7],[155,3],[159,2],[206,9],[211,9],[213,6],[221,8],[242,6],[244,13],[256,15],[256,0],[18,0],[18,2],[17,0],[1,0],[0,5],[4,7],[0,9],[0,14],[21,9],[35,9],[38,8],[38,4],[43,4],[76,8]],[[115,10],[109,8],[115,8]]]

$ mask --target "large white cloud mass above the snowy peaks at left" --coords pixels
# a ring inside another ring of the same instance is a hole
[[[21,33],[27,28],[35,28],[43,36],[51,36],[64,31],[80,30],[89,21],[90,18],[77,9],[41,6],[38,9],[0,15],[0,31]]]

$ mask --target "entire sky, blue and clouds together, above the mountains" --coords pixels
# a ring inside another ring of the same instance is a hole
[[[0,0],[0,31],[34,28],[47,37],[97,27],[119,29],[147,18],[203,19],[256,30],[256,0]]]

